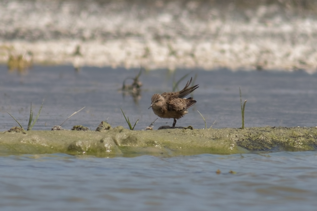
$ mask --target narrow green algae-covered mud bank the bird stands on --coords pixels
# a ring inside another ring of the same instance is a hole
[[[122,126],[96,131],[24,131],[0,134],[0,153],[68,153],[100,157],[235,154],[307,151],[317,147],[317,127],[165,129],[131,131]]]

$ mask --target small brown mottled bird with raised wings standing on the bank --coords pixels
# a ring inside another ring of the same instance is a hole
[[[149,109],[152,108],[154,114],[161,118],[173,118],[174,122],[172,127],[175,128],[176,120],[187,114],[187,109],[197,102],[192,97],[187,99],[184,98],[199,87],[199,84],[189,87],[192,80],[193,78],[191,77],[191,80],[187,81],[187,84],[181,91],[154,94],[151,98],[151,105]]]

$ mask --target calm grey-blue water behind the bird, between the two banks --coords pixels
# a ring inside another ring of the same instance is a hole
[[[138,69],[84,67],[76,73],[71,66],[35,66],[26,75],[8,73],[6,66],[0,66],[0,130],[17,126],[5,111],[12,114],[26,127],[30,103],[34,113],[38,112],[43,98],[41,115],[34,126],[36,130],[50,130],[60,125],[75,111],[86,107],[72,116],[62,126],[71,129],[83,125],[93,130],[101,121],[107,120],[113,127],[128,127],[120,108],[131,122],[139,119],[136,130],[146,128],[154,121],[148,107],[154,93],[172,90],[174,73],[166,70],[145,72],[140,76],[143,83],[139,100],[123,96],[118,90],[125,78],[134,77]],[[180,83],[182,89],[190,77],[197,74],[194,82],[199,88],[193,92],[197,103],[189,114],[177,121],[176,126],[241,127],[242,98],[248,100],[245,108],[245,126],[315,127],[317,116],[317,74],[306,72],[237,71],[228,70],[177,70],[175,80],[190,73]],[[132,83],[132,80],[127,80]],[[172,125],[173,120],[158,119],[154,129]]]

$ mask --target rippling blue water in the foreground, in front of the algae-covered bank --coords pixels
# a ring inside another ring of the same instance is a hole
[[[316,152],[0,160],[1,210],[315,210],[317,205]]]

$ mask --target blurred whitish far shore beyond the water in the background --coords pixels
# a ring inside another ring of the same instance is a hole
[[[0,62],[315,72],[316,10],[315,1],[1,1]]]

